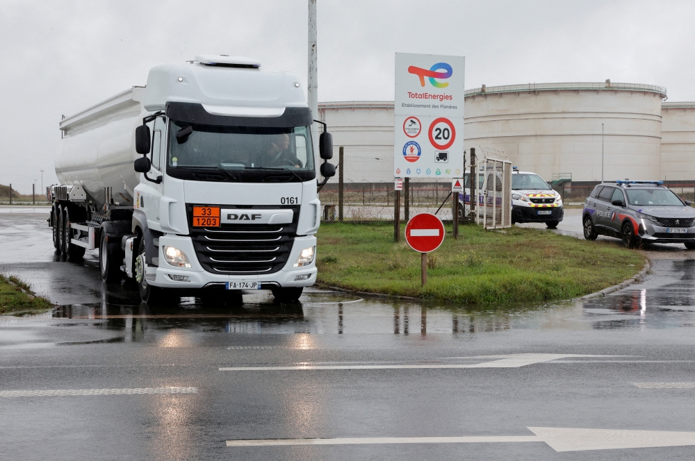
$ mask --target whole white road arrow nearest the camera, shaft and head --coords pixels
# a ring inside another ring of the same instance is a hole
[[[528,428],[535,435],[468,437],[350,437],[336,439],[227,440],[227,446],[293,446],[347,444],[489,444],[545,442],[555,451],[640,449],[695,446],[695,433],[662,430]]]

